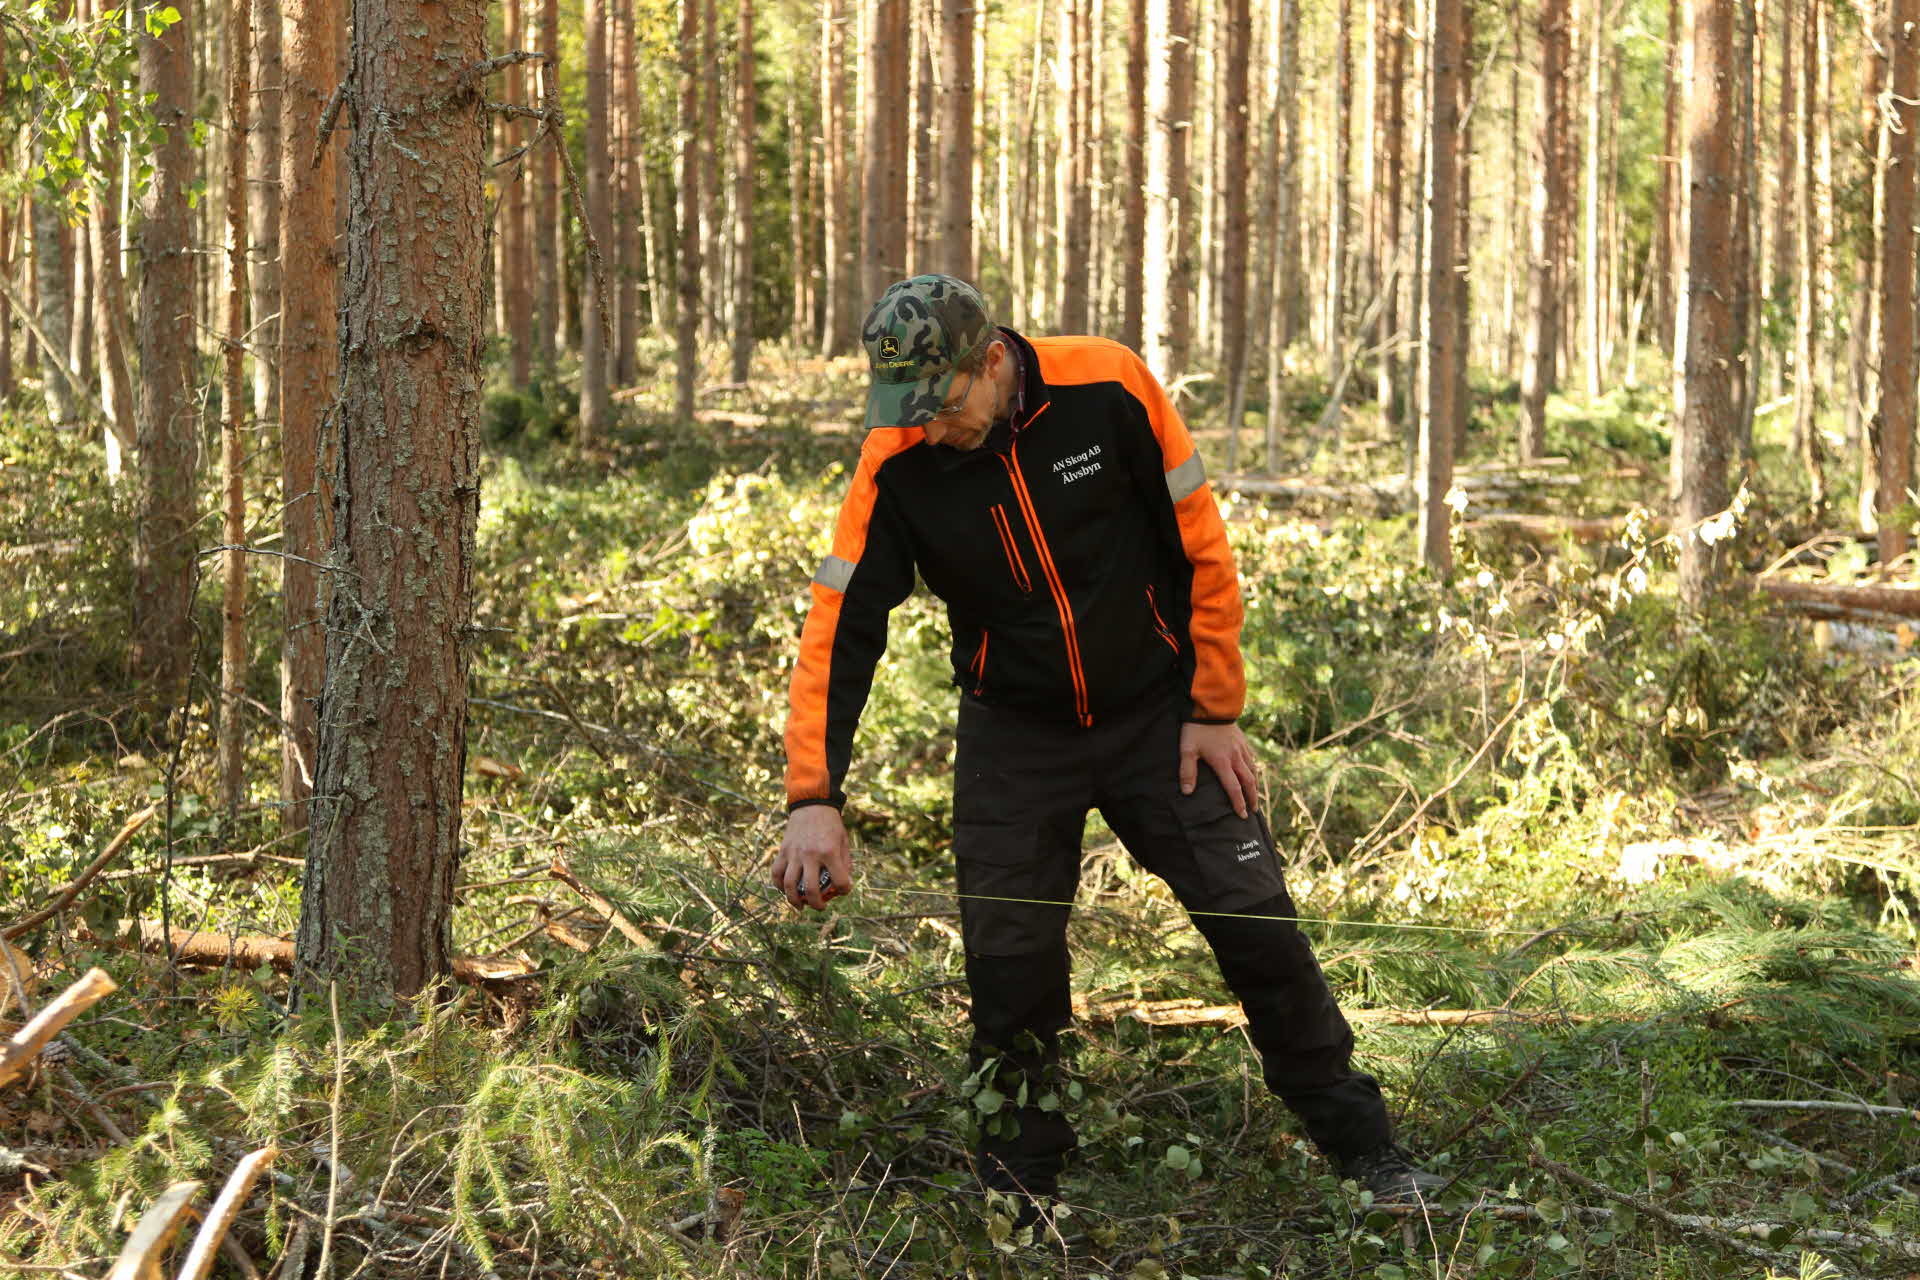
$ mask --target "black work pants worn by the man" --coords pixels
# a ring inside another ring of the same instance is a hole
[[[1240,1000],[1271,1088],[1327,1155],[1392,1136],[1380,1086],[1350,1067],[1354,1032],[1300,927],[1279,854],[1258,812],[1240,818],[1213,770],[1179,789],[1181,714],[1152,704],[1091,729],[1035,722],[964,699],[956,735],[954,860],[975,1069],[1018,1132],[981,1136],[989,1186],[1052,1194],[1075,1148],[1058,1109],[1041,1109],[1071,1021],[1068,904],[1079,887],[1081,833],[1100,810],[1127,852],[1173,889]],[[1041,902],[1014,902],[1014,898]],[[1217,912],[1217,913],[1215,913]],[[1027,1102],[1018,1105],[1020,1084]]]

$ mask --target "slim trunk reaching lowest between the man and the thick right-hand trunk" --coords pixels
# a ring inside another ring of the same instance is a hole
[[[1432,98],[1427,107],[1427,413],[1421,415],[1419,443],[1419,541],[1421,560],[1436,576],[1453,570],[1448,537],[1453,486],[1453,438],[1459,382],[1455,372],[1459,324],[1453,320],[1461,276],[1453,236],[1459,180],[1459,98],[1461,98],[1461,2],[1432,0]]]

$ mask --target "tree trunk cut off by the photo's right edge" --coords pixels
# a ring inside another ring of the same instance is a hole
[[[1885,225],[1880,236],[1880,474],[1876,476],[1874,520],[1880,532],[1880,562],[1893,564],[1910,547],[1914,470],[1914,165],[1920,148],[1920,0],[1891,0],[1887,23],[1887,102]]]

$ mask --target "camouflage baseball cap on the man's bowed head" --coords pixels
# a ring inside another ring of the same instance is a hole
[[[860,326],[872,382],[868,426],[922,426],[947,399],[954,367],[993,340],[987,299],[954,276],[893,284]]]

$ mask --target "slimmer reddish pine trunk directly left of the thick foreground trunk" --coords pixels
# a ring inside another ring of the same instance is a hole
[[[330,543],[332,474],[319,464],[321,424],[334,397],[340,261],[334,255],[336,146],[319,152],[321,111],[332,92],[338,48],[334,0],[282,0],[284,84],[280,136],[280,827],[307,829],[319,748],[317,699],[326,674],[326,601],[319,562]]]

